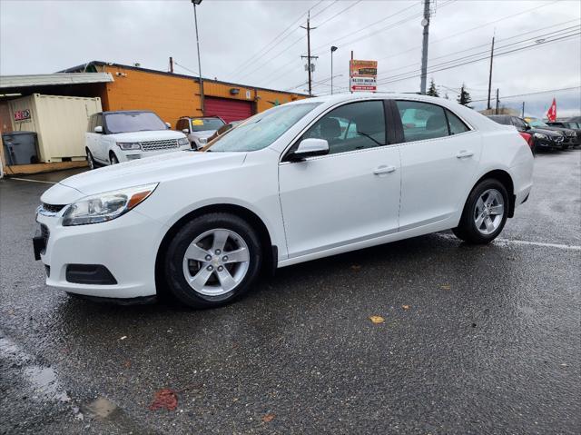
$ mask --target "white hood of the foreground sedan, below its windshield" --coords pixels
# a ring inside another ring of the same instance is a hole
[[[69,187],[78,193],[91,195],[125,187],[183,179],[184,188],[187,189],[192,188],[190,181],[192,177],[200,175],[207,178],[212,176],[213,172],[238,167],[244,163],[245,156],[246,153],[197,153],[191,151],[160,154],[79,173],[65,178],[57,186]],[[45,202],[51,203],[50,201]]]

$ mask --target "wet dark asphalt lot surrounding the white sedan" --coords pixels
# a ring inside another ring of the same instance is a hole
[[[488,246],[351,252],[209,311],[45,287],[30,239],[49,186],[0,181],[2,434],[581,431],[581,150],[537,156]],[[175,410],[150,410],[162,389]]]

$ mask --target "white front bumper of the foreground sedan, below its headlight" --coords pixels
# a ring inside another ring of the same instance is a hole
[[[34,236],[34,256],[46,266],[46,285],[99,298],[156,294],[155,259],[165,232],[162,223],[132,210],[113,221],[64,227],[63,213],[36,217],[44,231]],[[72,282],[77,280],[69,265],[87,265],[89,273],[103,266],[117,283]]]

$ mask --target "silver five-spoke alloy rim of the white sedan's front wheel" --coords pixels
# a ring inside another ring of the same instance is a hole
[[[244,279],[250,265],[250,251],[244,239],[222,228],[202,232],[183,255],[186,282],[195,292],[221,296]]]

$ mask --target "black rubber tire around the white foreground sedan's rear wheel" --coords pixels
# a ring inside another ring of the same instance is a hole
[[[478,231],[477,224],[474,221],[474,216],[476,214],[478,198],[480,198],[480,196],[488,189],[496,189],[500,194],[502,194],[502,198],[504,200],[504,211],[502,220],[500,221],[497,229],[490,234],[484,234]],[[462,211],[462,216],[460,217],[458,227],[452,229],[452,232],[454,232],[458,239],[461,239],[464,242],[474,244],[486,244],[492,242],[497,238],[497,235],[502,232],[502,229],[507,222],[509,204],[507,189],[503,183],[500,183],[495,178],[488,178],[483,180],[478,183],[474,189],[472,189],[472,192],[470,192],[468,195],[468,200],[464,205],[464,210]]]

